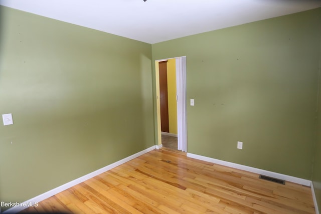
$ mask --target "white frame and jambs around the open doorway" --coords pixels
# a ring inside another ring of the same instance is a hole
[[[155,60],[156,109],[157,109],[157,140],[162,144],[161,131],[161,102],[159,96],[159,67],[158,62],[176,59],[176,99],[178,150],[187,152],[187,113],[186,113],[186,56]]]

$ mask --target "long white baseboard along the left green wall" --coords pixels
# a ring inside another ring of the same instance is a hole
[[[155,149],[155,146],[151,146],[151,147],[149,147],[147,149],[144,149],[144,150],[142,150],[140,152],[137,152],[137,153],[135,153],[133,155],[125,157],[124,159],[121,159],[121,160],[119,160],[117,162],[109,164],[109,165],[107,165],[107,166],[105,166],[103,168],[100,168],[100,169],[98,169],[96,171],[93,171],[93,172],[91,172],[89,174],[86,174],[86,175],[84,175],[82,177],[79,177],[79,178],[77,178],[75,180],[72,180],[72,181],[70,181],[68,183],[65,183],[65,184],[63,184],[61,186],[58,186],[58,187],[56,187],[54,189],[51,189],[51,190],[49,190],[49,191],[47,191],[47,192],[45,192],[43,194],[40,194],[40,195],[38,195],[36,197],[33,197],[33,198],[31,198],[31,199],[29,199],[29,200],[27,200],[25,202],[22,202],[21,204],[24,204],[25,206],[14,206],[14,207],[11,207],[11,208],[7,209],[3,213],[17,213],[17,212],[20,212],[20,211],[24,210],[25,208],[28,208],[28,205],[26,206],[26,204],[35,204],[36,202],[38,203],[38,202],[40,202],[40,201],[42,201],[44,199],[47,199],[47,198],[49,198],[49,197],[51,197],[51,196],[53,196],[55,194],[58,194],[61,191],[64,191],[64,190],[66,190],[66,189],[68,189],[68,188],[70,188],[70,187],[72,187],[74,185],[77,185],[77,184],[79,184],[79,183],[81,183],[81,182],[83,182],[85,180],[88,180],[88,179],[90,179],[92,177],[95,177],[95,176],[97,176],[97,175],[99,175],[99,174],[101,174],[101,173],[103,173],[105,171],[108,171],[108,170],[110,170],[110,169],[112,169],[112,168],[114,168],[116,166],[119,166],[119,165],[121,165],[121,164],[123,164],[125,162],[128,162],[129,160],[132,160],[132,159],[134,159],[136,157],[139,157],[140,155],[143,155],[143,154],[145,154],[145,153],[147,153],[147,152],[149,152],[151,150],[154,150],[154,149]]]

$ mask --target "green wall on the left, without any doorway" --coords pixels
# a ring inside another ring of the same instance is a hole
[[[154,145],[151,45],[0,7],[0,201]],[[12,142],[12,143],[11,143]]]

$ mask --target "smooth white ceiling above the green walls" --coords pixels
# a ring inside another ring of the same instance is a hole
[[[154,44],[321,7],[321,0],[0,0],[0,5]]]

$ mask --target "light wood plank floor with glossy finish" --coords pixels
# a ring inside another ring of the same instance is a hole
[[[153,150],[22,212],[315,213],[309,187]]]

